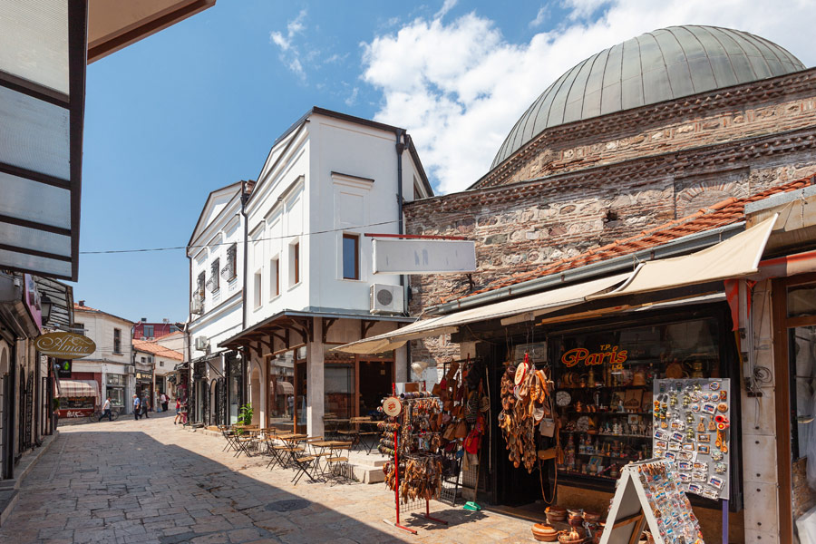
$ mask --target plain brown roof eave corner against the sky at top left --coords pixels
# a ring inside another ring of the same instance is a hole
[[[88,63],[215,5],[216,0],[89,0]]]

